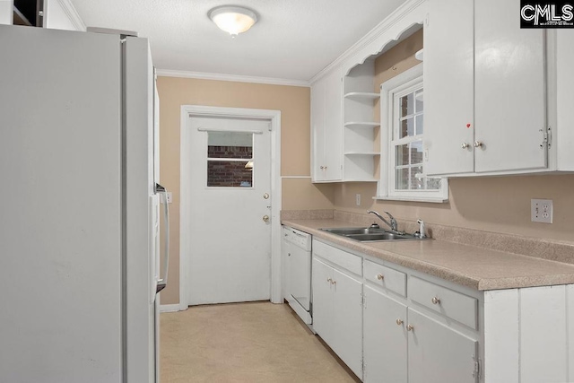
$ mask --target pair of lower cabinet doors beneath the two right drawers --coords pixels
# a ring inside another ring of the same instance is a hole
[[[364,381],[477,381],[476,340],[369,286],[364,289]]]

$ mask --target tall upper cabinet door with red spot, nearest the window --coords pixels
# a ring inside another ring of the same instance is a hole
[[[429,175],[473,172],[474,2],[430,0],[428,6],[423,61],[428,157],[424,167]],[[463,148],[464,144],[468,146]]]

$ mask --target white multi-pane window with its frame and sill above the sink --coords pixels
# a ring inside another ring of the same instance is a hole
[[[381,84],[379,199],[444,202],[448,179],[424,172],[422,64]]]

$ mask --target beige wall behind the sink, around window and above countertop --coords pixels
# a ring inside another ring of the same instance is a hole
[[[417,65],[413,55],[422,48],[422,30],[392,48],[375,62],[374,91],[389,78]],[[379,120],[378,110],[375,118]],[[361,194],[361,206],[355,205]],[[574,240],[574,175],[513,176],[491,178],[451,178],[447,204],[373,202],[374,183],[335,185],[335,209],[366,213],[387,210],[396,219],[465,227],[483,231],[532,236],[544,239]],[[554,201],[554,223],[530,222],[530,199]]]

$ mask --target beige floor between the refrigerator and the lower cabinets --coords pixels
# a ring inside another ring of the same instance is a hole
[[[161,383],[360,381],[286,304],[162,313],[160,335]]]

